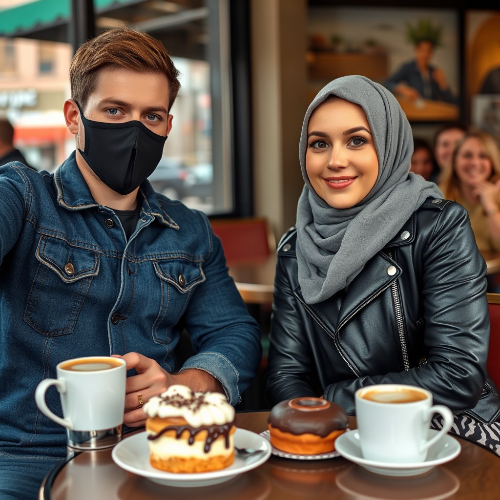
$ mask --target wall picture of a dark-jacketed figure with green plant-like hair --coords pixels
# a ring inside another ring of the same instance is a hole
[[[309,8],[310,93],[345,74],[391,90],[410,121],[460,115],[458,12],[454,9]]]

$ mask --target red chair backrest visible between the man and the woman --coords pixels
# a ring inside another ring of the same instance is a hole
[[[264,217],[211,219],[229,264],[264,259],[276,249],[274,234]]]

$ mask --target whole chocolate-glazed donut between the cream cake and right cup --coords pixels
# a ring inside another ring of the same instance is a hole
[[[321,397],[295,397],[273,406],[267,423],[275,448],[304,455],[328,453],[345,432],[347,414]]]

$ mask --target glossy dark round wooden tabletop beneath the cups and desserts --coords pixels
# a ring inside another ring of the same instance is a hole
[[[261,432],[267,411],[236,414],[236,425]],[[349,417],[355,428],[355,418]],[[85,451],[55,467],[40,489],[43,500],[496,500],[500,457],[464,439],[453,460],[413,477],[368,472],[342,457],[292,460],[271,455],[259,467],[220,484],[170,487],[118,467],[111,449]]]

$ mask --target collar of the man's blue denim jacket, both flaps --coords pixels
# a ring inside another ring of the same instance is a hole
[[[82,210],[97,207],[99,204],[93,199],[90,189],[81,175],[76,164],[75,151],[73,151],[54,173],[57,203],[67,210]],[[146,179],[139,187],[139,192],[144,201],[141,215],[150,215],[159,223],[178,229],[179,225],[160,206],[157,194]]]

